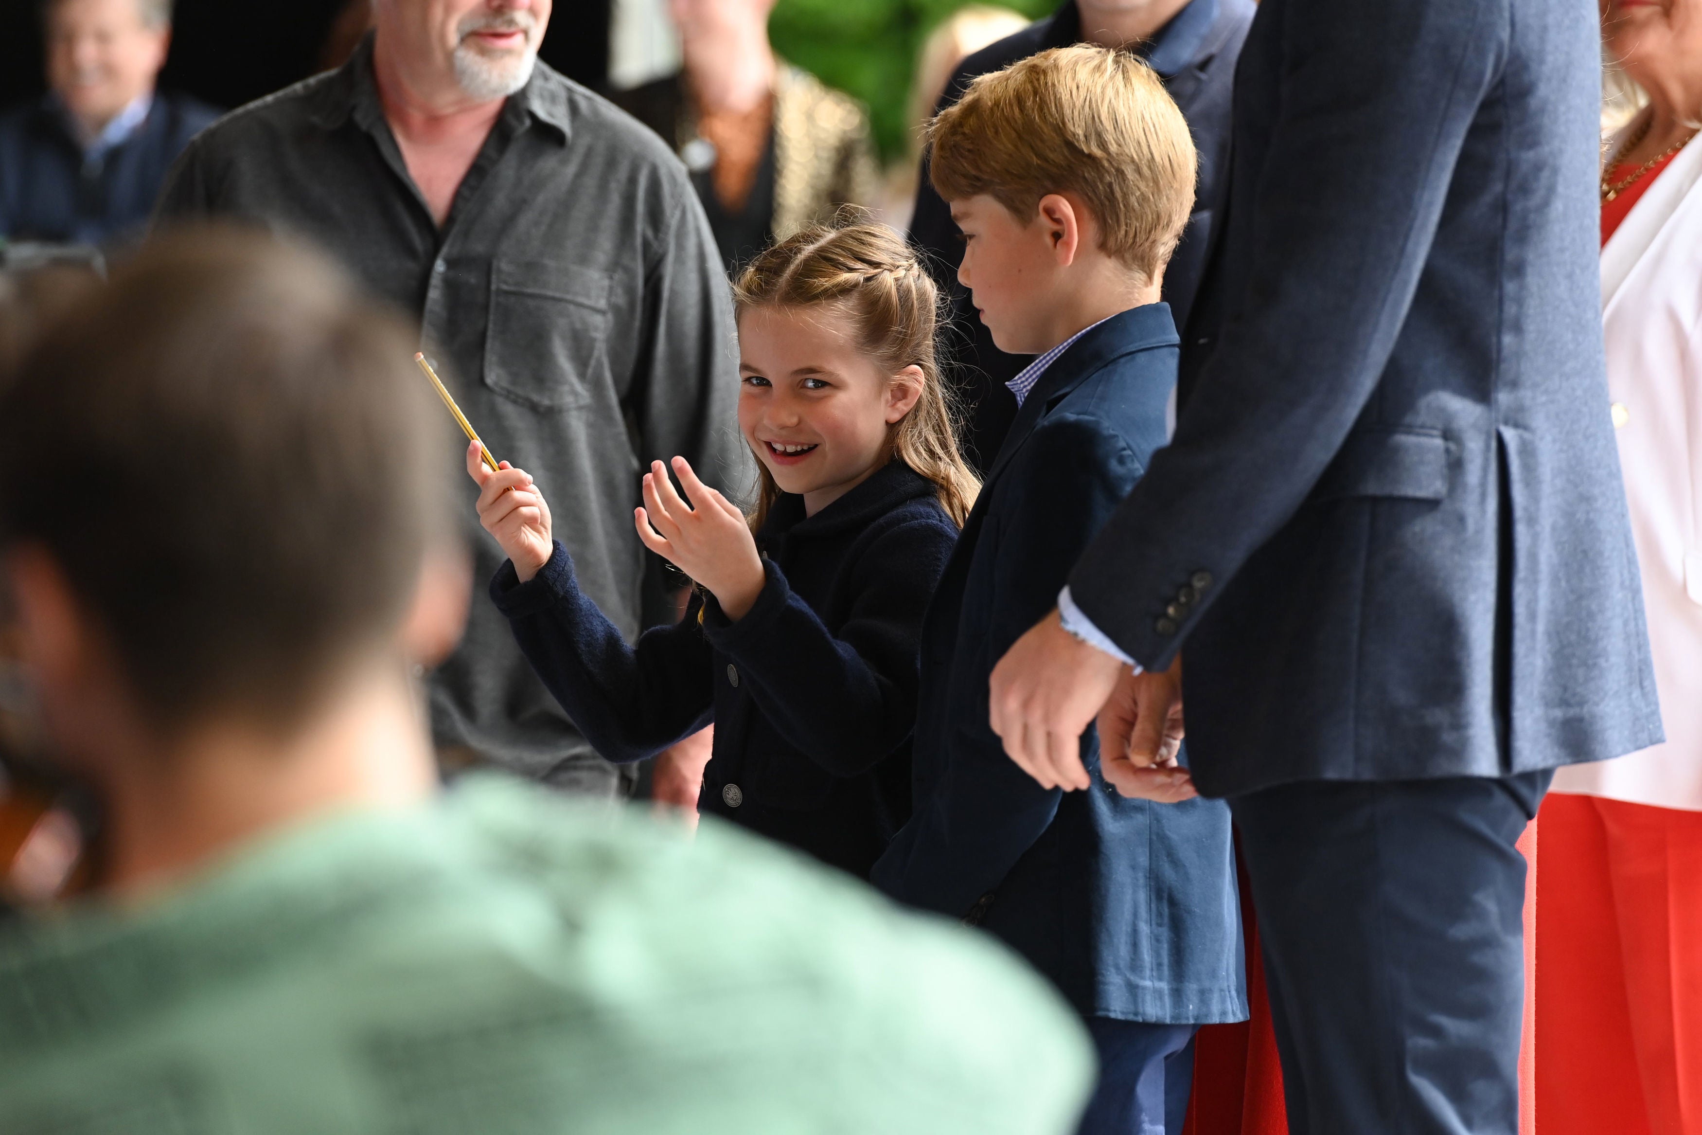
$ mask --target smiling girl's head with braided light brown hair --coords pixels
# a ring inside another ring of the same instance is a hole
[[[751,262],[734,303],[739,427],[761,478],[754,528],[781,492],[815,512],[894,458],[963,524],[980,482],[940,374],[940,294],[902,237],[866,223],[805,230]]]

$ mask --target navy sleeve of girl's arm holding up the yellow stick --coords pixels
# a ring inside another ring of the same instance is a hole
[[[574,558],[560,541],[524,584],[504,560],[490,597],[533,670],[604,759],[654,757],[713,720],[713,655],[698,626],[701,599],[677,625],[648,630],[631,647],[579,589]]]

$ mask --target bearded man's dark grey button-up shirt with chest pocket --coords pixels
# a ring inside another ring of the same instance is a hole
[[[385,121],[371,43],[199,134],[157,223],[220,214],[308,237],[415,313],[468,420],[536,478],[580,585],[637,635],[643,470],[684,454],[723,492],[751,482],[727,277],[686,170],[635,119],[540,63],[439,230]],[[466,638],[431,679],[437,744],[572,781],[597,757],[483,597],[504,556],[475,497],[466,482],[477,582]]]

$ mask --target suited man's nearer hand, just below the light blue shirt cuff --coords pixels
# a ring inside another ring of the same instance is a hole
[[[1042,788],[1091,788],[1081,735],[1122,670],[1122,662],[1064,630],[1054,609],[992,667],[992,732]]]

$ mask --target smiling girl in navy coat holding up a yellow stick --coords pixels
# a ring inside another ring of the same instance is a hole
[[[934,357],[938,294],[875,225],[762,252],[735,291],[745,517],[683,458],[654,463],[645,546],[698,584],[628,645],[579,589],[523,470],[466,468],[509,555],[490,594],[574,723],[637,761],[715,723],[700,808],[856,875],[909,815],[922,613],[979,482]]]

